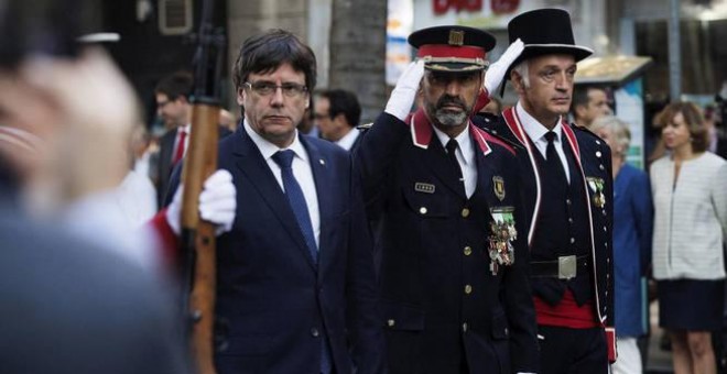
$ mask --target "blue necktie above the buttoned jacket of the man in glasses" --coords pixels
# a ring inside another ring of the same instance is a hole
[[[313,235],[313,224],[311,223],[311,216],[308,215],[308,206],[305,202],[305,196],[301,189],[301,185],[295,180],[293,175],[293,157],[295,152],[291,150],[278,151],[273,156],[273,161],[280,166],[283,177],[283,188],[287,202],[290,202],[297,227],[303,233],[305,244],[313,256],[313,262],[318,262],[318,246],[315,244],[315,237]]]

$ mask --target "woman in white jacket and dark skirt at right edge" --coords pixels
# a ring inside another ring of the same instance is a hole
[[[649,170],[659,324],[670,332],[675,373],[716,373],[710,332],[723,328],[727,162],[706,152],[695,105],[671,103],[659,119],[670,151]]]

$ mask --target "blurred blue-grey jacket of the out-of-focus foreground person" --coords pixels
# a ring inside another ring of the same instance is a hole
[[[182,319],[159,279],[107,249],[24,219],[3,198],[1,373],[191,372]]]

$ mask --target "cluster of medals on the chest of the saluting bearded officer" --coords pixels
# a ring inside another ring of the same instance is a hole
[[[492,222],[490,223],[489,255],[490,271],[497,275],[499,266],[514,264],[514,248],[512,241],[518,239],[518,230],[514,227],[514,208],[491,208]]]

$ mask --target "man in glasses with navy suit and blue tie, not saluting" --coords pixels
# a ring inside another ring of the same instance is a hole
[[[220,374],[382,371],[371,240],[350,156],[295,129],[315,64],[282,30],[248,38],[235,64],[245,119],[219,143],[218,166],[238,199],[217,243],[216,312],[228,327]]]

